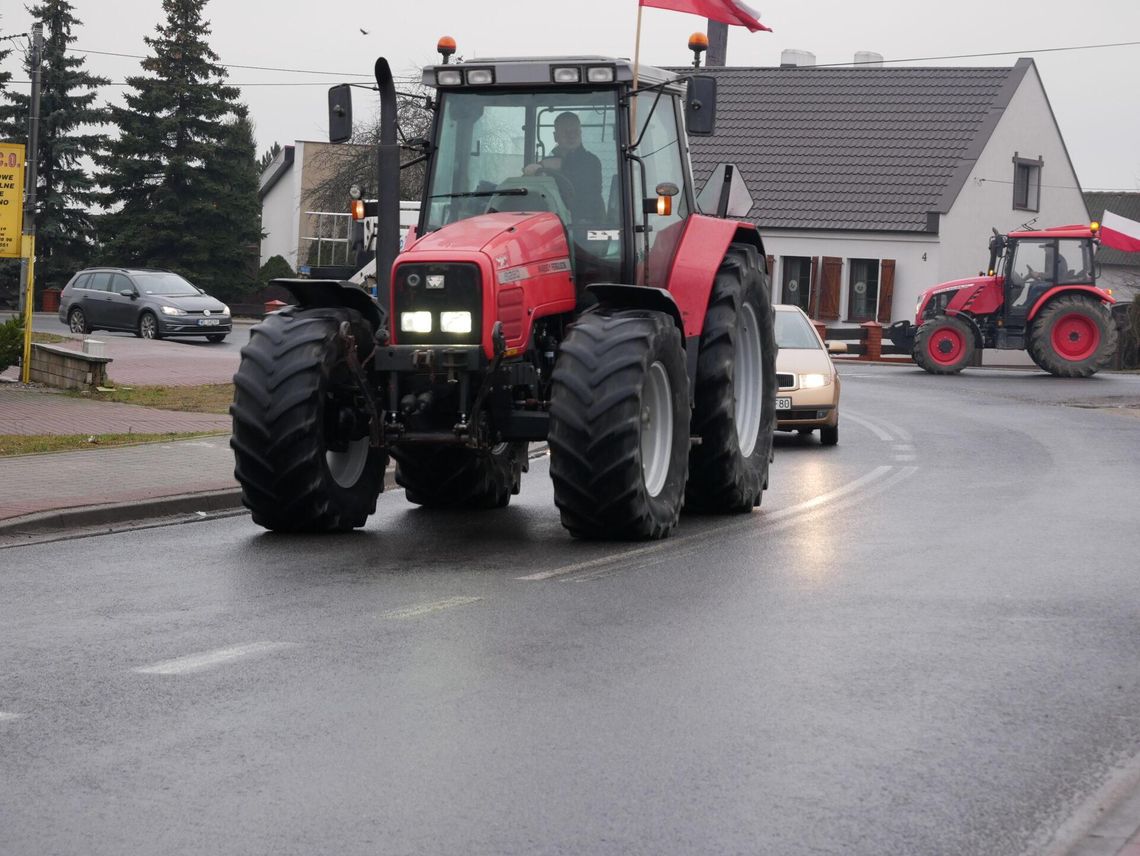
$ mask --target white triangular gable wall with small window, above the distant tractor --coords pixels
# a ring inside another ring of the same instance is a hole
[[[1040,211],[1013,207],[1013,156],[1041,157]],[[1076,172],[1036,70],[1031,67],[1002,114],[950,212],[942,217],[942,267],[935,282],[974,276],[990,260],[993,228],[1005,234],[1089,222]],[[934,283],[931,283],[934,285]]]

